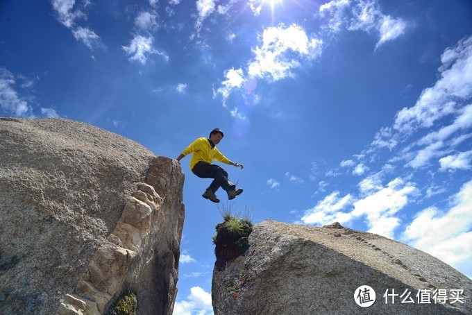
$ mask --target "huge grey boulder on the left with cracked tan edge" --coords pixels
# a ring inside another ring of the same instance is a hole
[[[183,172],[67,119],[0,118],[0,314],[171,314]]]

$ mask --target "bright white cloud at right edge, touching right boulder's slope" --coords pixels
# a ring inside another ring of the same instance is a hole
[[[472,181],[455,196],[455,205],[441,212],[429,207],[407,226],[404,237],[426,253],[457,265],[472,259]]]

